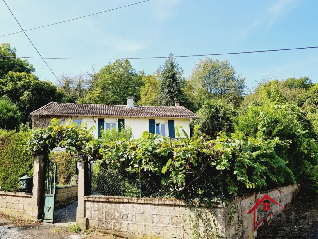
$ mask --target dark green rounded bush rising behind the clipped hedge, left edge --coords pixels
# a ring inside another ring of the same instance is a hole
[[[14,130],[19,126],[21,115],[18,107],[5,95],[0,98],[0,128]]]

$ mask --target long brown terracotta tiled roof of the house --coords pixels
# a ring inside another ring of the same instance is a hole
[[[127,105],[97,105],[51,102],[31,115],[64,115],[64,116],[143,116],[167,118],[198,118],[198,116],[183,106],[127,106]]]

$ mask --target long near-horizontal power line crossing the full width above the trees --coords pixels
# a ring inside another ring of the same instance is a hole
[[[202,55],[179,55],[173,56],[177,57],[194,57],[194,56],[213,56],[213,55],[234,55],[234,54],[248,54],[248,53],[259,53],[259,52],[274,52],[274,51],[290,51],[290,50],[301,50],[301,49],[312,49],[317,47],[298,47],[298,48],[287,48],[287,49],[277,49],[277,50],[263,50],[263,51],[245,51],[245,52],[232,52],[232,53],[216,53],[216,54],[202,54]],[[19,57],[19,58],[31,58],[37,59],[42,57],[28,57],[28,56],[6,56],[3,57]],[[117,59],[155,59],[155,58],[168,58],[169,56],[152,56],[152,57],[118,57],[118,58],[69,58],[69,57],[43,57],[42,59],[60,59],[60,60],[117,60]]]

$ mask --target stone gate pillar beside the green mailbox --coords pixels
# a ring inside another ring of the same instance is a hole
[[[42,202],[43,202],[43,175],[45,156],[35,156],[33,163],[33,178],[32,178],[32,217],[41,219],[42,217]]]

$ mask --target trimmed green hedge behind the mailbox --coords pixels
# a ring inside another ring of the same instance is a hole
[[[0,191],[18,192],[18,178],[32,176],[33,156],[24,150],[29,135],[0,130]]]

